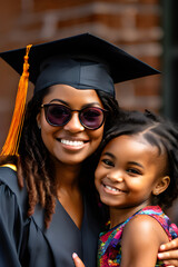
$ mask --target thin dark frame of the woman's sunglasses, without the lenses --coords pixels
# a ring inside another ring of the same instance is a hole
[[[49,118],[48,118],[48,108],[51,107],[51,106],[60,106],[60,107],[65,107],[67,110],[70,110],[69,120],[67,120],[67,121],[66,121],[65,123],[62,123],[62,125],[55,125],[55,123],[52,123],[52,122],[49,120]],[[61,105],[61,103],[42,103],[42,105],[41,105],[41,108],[44,109],[46,120],[47,120],[47,122],[48,122],[50,126],[53,126],[53,127],[62,127],[62,126],[67,125],[67,123],[71,120],[72,112],[73,112],[73,111],[77,111],[77,112],[78,112],[78,116],[79,116],[80,123],[81,123],[86,129],[89,129],[89,130],[97,130],[97,129],[99,129],[99,128],[103,125],[103,122],[105,122],[105,120],[106,120],[107,112],[108,112],[108,110],[102,109],[102,108],[99,108],[99,107],[86,107],[86,108],[82,108],[82,109],[80,109],[80,110],[78,110],[78,109],[70,109],[69,107],[66,107],[65,105]],[[96,109],[99,109],[100,111],[102,111],[103,118],[102,118],[101,123],[100,123],[97,128],[90,128],[90,127],[86,126],[86,125],[82,122],[81,118],[80,118],[81,112],[82,112],[85,109],[88,109],[88,108],[96,108]]]

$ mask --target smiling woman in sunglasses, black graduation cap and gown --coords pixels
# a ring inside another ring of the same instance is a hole
[[[22,55],[0,56],[21,72]],[[34,46],[34,96],[22,126],[27,59],[1,154],[0,266],[73,266],[77,251],[93,267],[100,230],[93,155],[119,112],[113,82],[157,71],[90,34]]]

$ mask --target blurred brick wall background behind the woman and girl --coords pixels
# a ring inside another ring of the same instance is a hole
[[[178,121],[177,0],[0,0],[0,52],[90,32],[162,72],[117,85],[119,105]],[[0,59],[0,148],[18,81],[19,76]],[[175,202],[169,215],[178,225],[177,208]]]

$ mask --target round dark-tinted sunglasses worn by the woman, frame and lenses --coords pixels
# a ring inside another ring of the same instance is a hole
[[[98,107],[76,110],[58,103],[44,103],[41,105],[41,108],[44,108],[46,120],[51,126],[67,125],[71,119],[72,112],[77,111],[79,112],[80,123],[90,130],[96,130],[102,126],[107,112],[107,110]]]

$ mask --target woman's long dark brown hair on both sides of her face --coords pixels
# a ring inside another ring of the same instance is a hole
[[[0,160],[0,164],[12,162],[17,165],[19,185],[23,187],[24,180],[28,190],[28,216],[33,214],[34,207],[39,202],[44,208],[46,227],[49,226],[55,212],[57,191],[52,162],[49,151],[41,139],[41,132],[37,125],[37,115],[40,111],[42,99],[48,92],[49,88],[37,92],[27,106],[18,151],[20,157],[7,157]],[[109,111],[105,122],[105,129],[108,129],[111,126],[110,117],[113,118],[119,112],[118,103],[106,92],[97,91],[97,93],[102,101],[103,108]],[[88,191],[95,190],[91,185],[93,184],[93,179],[91,178],[95,169],[95,165],[93,168],[91,167],[91,164],[95,162],[93,158],[95,156],[91,156],[89,159],[86,159],[81,169],[81,174],[85,175],[82,184],[86,185],[85,188]],[[92,192],[88,195],[91,196]]]

